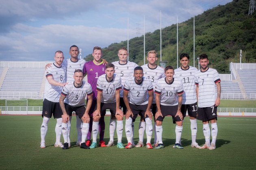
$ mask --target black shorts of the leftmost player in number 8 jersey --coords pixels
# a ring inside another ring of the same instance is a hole
[[[61,115],[63,115],[61,106],[59,102],[51,102],[47,99],[43,100],[43,111],[42,111],[42,117],[48,117],[51,118],[53,115],[54,119],[61,118]]]

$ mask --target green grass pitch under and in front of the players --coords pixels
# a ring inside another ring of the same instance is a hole
[[[105,117],[105,142],[109,140]],[[135,141],[138,140],[138,122],[135,122]],[[256,118],[218,117],[217,148],[191,148],[191,130],[188,117],[182,132],[184,149],[173,149],[175,125],[171,117],[163,122],[164,149],[80,149],[76,144],[76,118],[72,119],[72,147],[54,148],[56,120],[51,119],[46,135],[46,148],[40,148],[41,116],[0,116],[0,169],[255,169]],[[205,140],[202,123],[197,121],[197,142]],[[154,134],[153,134],[154,136]],[[152,137],[153,137],[152,136]],[[61,137],[63,141],[63,138]],[[117,137],[115,134],[115,144]],[[123,132],[123,143],[127,140]],[[145,138],[144,138],[145,143]],[[153,138],[152,138],[153,143]]]

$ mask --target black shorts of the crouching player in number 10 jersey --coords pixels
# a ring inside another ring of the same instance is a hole
[[[161,112],[163,117],[159,116],[156,120],[157,121],[163,121],[163,119],[165,118],[165,116],[172,116],[174,121],[182,121],[180,120],[180,117],[175,117],[177,110],[178,110],[178,104],[175,106],[164,106],[164,105],[160,105],[161,108]]]

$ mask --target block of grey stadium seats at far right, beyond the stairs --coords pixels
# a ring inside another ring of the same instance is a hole
[[[237,70],[241,83],[246,91],[247,98],[250,94],[256,94],[256,70]]]

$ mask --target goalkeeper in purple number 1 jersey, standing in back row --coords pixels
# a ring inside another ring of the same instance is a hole
[[[102,75],[105,74],[105,65],[103,64],[103,61],[101,60],[102,56],[102,50],[100,47],[94,47],[93,48],[93,60],[86,62],[84,65],[84,76],[87,74],[87,79],[88,83],[90,83],[92,89],[93,89],[93,102],[91,109],[89,110],[89,116],[92,118],[93,117],[93,112],[96,108],[97,104],[97,81],[98,78]],[[93,119],[90,119],[90,129],[89,133],[87,134],[87,146],[89,147],[91,145],[91,132],[92,132],[92,127],[97,126],[95,124],[95,121]],[[104,115],[100,117],[99,120],[99,131],[100,131],[100,147],[106,147],[106,144],[104,142],[104,131],[105,131],[105,121],[104,121]]]

